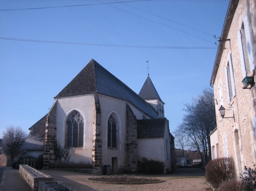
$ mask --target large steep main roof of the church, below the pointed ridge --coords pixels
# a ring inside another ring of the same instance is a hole
[[[150,117],[159,118],[151,105],[93,59],[55,98],[91,93],[126,100]]]

